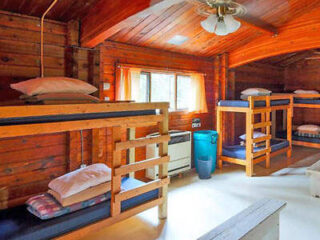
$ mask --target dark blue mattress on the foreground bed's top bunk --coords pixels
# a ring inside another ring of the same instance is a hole
[[[92,120],[92,119],[104,119],[104,118],[115,118],[115,117],[132,117],[132,116],[144,116],[144,115],[155,115],[155,114],[156,114],[156,110],[140,110],[140,111],[122,111],[122,112],[107,112],[107,113],[82,113],[82,114],[50,115],[50,116],[36,116],[36,117],[0,118],[0,126]]]

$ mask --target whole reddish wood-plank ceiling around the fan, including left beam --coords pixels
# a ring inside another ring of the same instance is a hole
[[[1,0],[0,9],[40,17],[51,2],[52,0]],[[167,4],[168,7],[138,14],[139,11],[159,2]],[[172,5],[174,2],[178,3]],[[232,52],[259,37],[270,37],[265,30],[245,22],[233,34],[227,36],[210,34],[200,26],[200,22],[205,18],[196,13],[196,2],[196,0],[135,0],[129,2],[124,0],[59,0],[47,17],[63,22],[71,19],[81,20],[81,42],[85,47],[93,47],[108,39],[137,46],[212,57],[216,54]],[[280,29],[280,35],[281,28],[287,22],[320,7],[320,1],[315,0],[237,0],[237,2],[247,8],[250,14],[248,18]],[[133,8],[136,11],[132,10]],[[130,14],[135,16],[134,20]],[[179,46],[169,44],[168,41],[176,35],[185,36],[188,40]]]

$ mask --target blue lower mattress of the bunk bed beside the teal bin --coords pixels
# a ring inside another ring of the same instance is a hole
[[[270,141],[271,144],[271,152],[276,152],[280,149],[286,148],[289,146],[288,141],[280,141],[272,139]],[[254,148],[254,152],[258,152],[263,150],[263,147],[256,147]],[[222,149],[222,156],[231,157],[231,158],[238,158],[238,159],[246,159],[246,148],[245,146],[235,145],[235,146],[227,146]]]

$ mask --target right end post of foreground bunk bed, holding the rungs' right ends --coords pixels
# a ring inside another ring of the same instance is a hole
[[[169,134],[169,112],[168,108],[162,108],[161,114],[163,115],[163,121],[159,123],[159,133],[160,135]],[[168,156],[168,142],[162,142],[159,144],[159,156]],[[163,163],[159,165],[159,179],[164,179],[168,177],[168,163]],[[160,219],[167,218],[168,212],[168,185],[162,186],[160,189],[160,197],[163,198],[163,203],[159,205],[158,215]]]

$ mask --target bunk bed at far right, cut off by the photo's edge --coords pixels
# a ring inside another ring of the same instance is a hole
[[[294,108],[320,108],[320,94],[294,94]],[[277,132],[277,137],[284,138],[287,131]],[[292,144],[297,146],[312,147],[320,149],[320,138],[298,136],[292,132]]]

